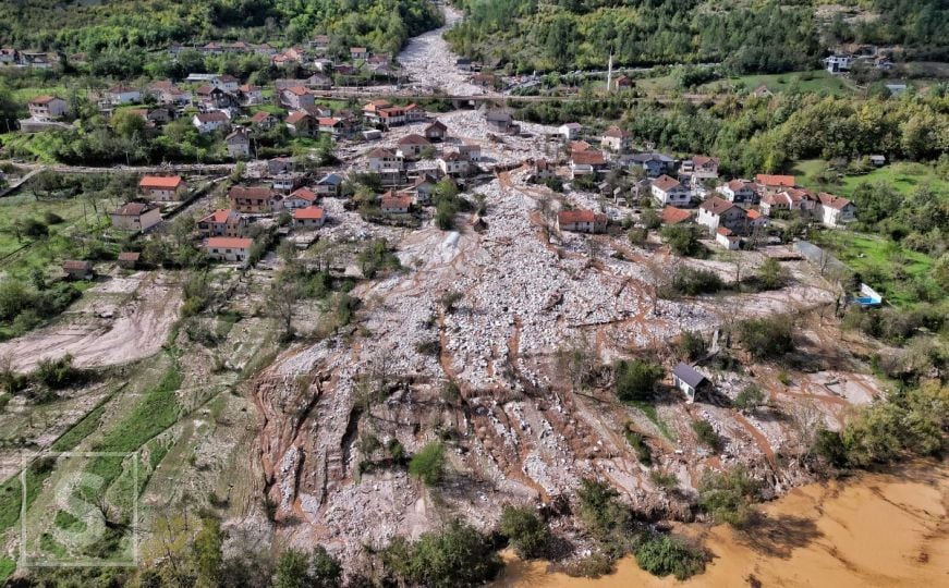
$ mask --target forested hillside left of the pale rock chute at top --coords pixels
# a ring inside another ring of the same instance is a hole
[[[394,51],[440,22],[428,0],[0,0],[0,45],[93,54],[207,39],[293,44],[315,33]]]

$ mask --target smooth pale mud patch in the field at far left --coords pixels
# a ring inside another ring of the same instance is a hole
[[[17,371],[29,371],[40,359],[65,354],[78,367],[101,367],[158,352],[178,318],[178,287],[144,273],[121,280],[86,292],[76,303],[81,308],[64,314],[57,324],[0,344],[0,357],[10,357]],[[129,291],[117,293],[117,286]],[[101,318],[107,311],[113,317]]]

